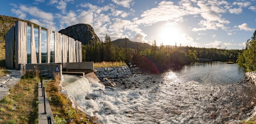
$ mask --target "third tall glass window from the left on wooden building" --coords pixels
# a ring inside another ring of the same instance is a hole
[[[47,31],[41,30],[41,63],[47,63]]]

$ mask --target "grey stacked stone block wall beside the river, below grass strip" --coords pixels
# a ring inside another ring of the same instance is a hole
[[[102,80],[103,78],[122,78],[126,75],[131,76],[132,73],[130,71],[130,68],[126,66],[120,66],[120,67],[108,67],[108,68],[94,68],[94,73],[96,76]]]

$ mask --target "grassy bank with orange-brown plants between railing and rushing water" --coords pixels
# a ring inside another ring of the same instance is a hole
[[[68,97],[60,93],[59,82],[60,77],[55,75],[54,80],[44,83],[56,124],[65,124],[65,120],[69,118],[73,121],[69,124],[85,124],[85,122],[94,124],[93,122],[98,118],[90,117],[81,110],[73,108]]]

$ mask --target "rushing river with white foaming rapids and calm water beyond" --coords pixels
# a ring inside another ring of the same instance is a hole
[[[86,83],[70,91],[87,114],[105,124],[222,124],[248,117],[256,103],[255,85],[237,83],[244,71],[225,62],[194,63],[157,75],[135,71],[112,80],[114,88]]]

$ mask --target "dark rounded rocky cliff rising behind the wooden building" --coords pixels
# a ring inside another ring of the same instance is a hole
[[[76,24],[59,31],[68,37],[72,37],[81,41],[82,44],[86,45],[90,40],[94,42],[100,42],[98,36],[94,33],[94,29],[89,24]]]

